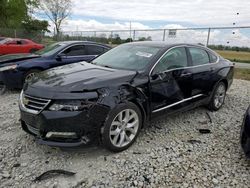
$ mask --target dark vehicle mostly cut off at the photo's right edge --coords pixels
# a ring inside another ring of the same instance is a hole
[[[250,106],[245,114],[241,128],[241,146],[246,156],[250,158]]]

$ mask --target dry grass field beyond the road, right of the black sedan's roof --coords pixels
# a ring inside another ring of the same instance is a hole
[[[241,62],[241,63],[250,63],[250,52],[237,52],[237,51],[230,51],[230,50],[215,50],[218,54],[222,57],[234,61],[234,62]]]

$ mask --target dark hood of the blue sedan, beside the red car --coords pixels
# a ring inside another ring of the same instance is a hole
[[[36,54],[11,54],[0,56],[0,65],[3,66],[9,63],[20,64],[22,62],[27,62],[29,59],[39,58],[41,56]],[[26,60],[26,61],[24,61]]]

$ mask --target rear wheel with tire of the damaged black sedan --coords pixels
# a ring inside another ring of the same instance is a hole
[[[223,82],[219,82],[215,87],[211,100],[208,104],[208,109],[211,111],[219,110],[224,104],[226,97],[226,85]]]

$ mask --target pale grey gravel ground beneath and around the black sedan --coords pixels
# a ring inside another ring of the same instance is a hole
[[[200,107],[160,117],[121,153],[101,147],[38,145],[19,124],[18,93],[0,98],[0,187],[249,187],[250,161],[239,147],[250,82],[235,80],[218,112]],[[209,118],[211,117],[211,120]],[[207,128],[211,134],[200,134]],[[52,169],[76,172],[34,182]]]

